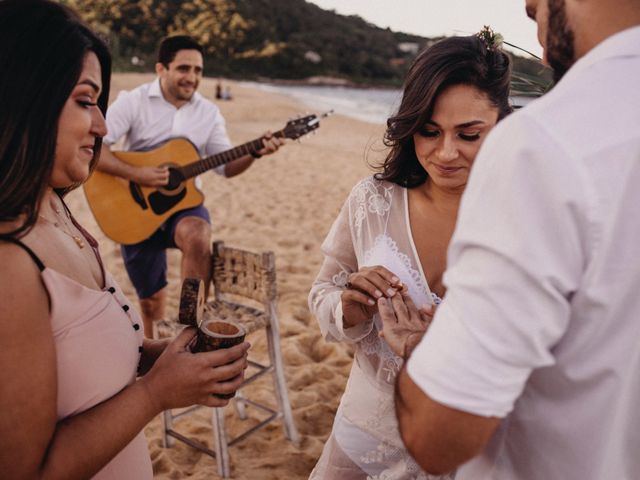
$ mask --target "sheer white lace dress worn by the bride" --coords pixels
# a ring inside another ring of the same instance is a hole
[[[378,315],[343,328],[340,295],[349,273],[383,265],[409,288],[420,306],[438,303],[411,234],[407,190],[370,177],[358,183],[322,244],[325,256],[309,294],[309,307],[327,341],[353,343],[355,359],[331,436],[311,479],[452,479],[424,473],[405,450],[398,432],[393,388],[402,366],[378,336]]]

